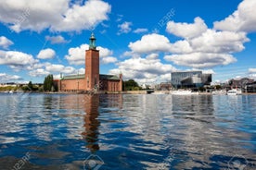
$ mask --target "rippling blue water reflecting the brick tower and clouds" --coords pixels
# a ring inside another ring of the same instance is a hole
[[[256,169],[256,95],[0,101],[0,169]]]

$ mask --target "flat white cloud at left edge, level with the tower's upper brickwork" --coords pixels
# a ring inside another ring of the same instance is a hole
[[[1,51],[0,50],[0,65],[8,65],[13,67],[30,66],[38,61],[32,55],[16,51]]]

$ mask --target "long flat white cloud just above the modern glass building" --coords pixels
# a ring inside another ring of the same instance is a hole
[[[164,59],[173,61],[174,64],[179,66],[206,68],[225,66],[234,62],[237,59],[228,54],[210,54],[210,53],[191,53],[183,55],[165,55]]]

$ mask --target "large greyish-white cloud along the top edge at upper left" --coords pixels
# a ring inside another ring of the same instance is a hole
[[[91,30],[108,19],[111,6],[101,0],[84,4],[70,0],[0,0],[0,21],[11,30],[80,31]]]

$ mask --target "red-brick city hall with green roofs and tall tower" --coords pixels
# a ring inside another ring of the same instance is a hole
[[[122,74],[99,74],[99,51],[96,50],[94,33],[90,37],[89,49],[85,51],[85,74],[60,76],[55,79],[58,91],[122,91]]]

